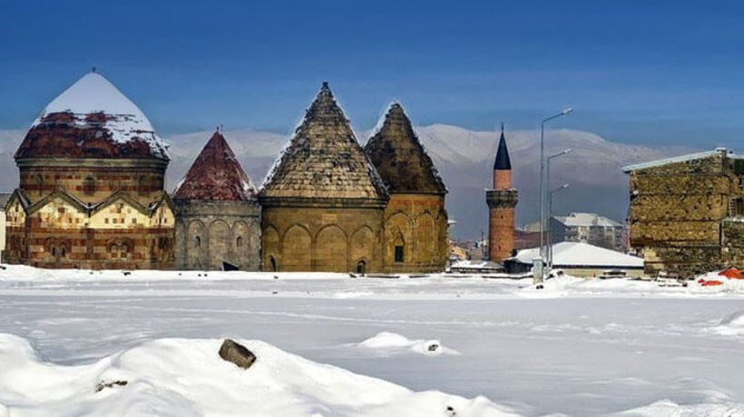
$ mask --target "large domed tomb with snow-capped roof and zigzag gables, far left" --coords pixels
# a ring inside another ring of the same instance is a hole
[[[166,146],[142,111],[88,73],[50,102],[15,152],[7,260],[35,267],[171,268]]]

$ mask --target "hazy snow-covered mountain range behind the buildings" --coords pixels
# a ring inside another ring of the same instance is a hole
[[[452,234],[476,238],[487,227],[484,189],[491,186],[496,148],[494,131],[434,124],[416,128],[421,141],[449,189],[447,209],[457,221]],[[18,182],[13,154],[24,131],[0,131],[0,189],[10,190]],[[171,145],[168,188],[185,175],[212,131],[197,131],[165,138]],[[357,132],[366,141],[368,131]],[[506,131],[514,169],[514,186],[519,189],[517,223],[533,221],[538,215],[539,131]],[[254,184],[259,185],[289,135],[270,131],[224,131],[236,156]],[[694,151],[682,147],[647,147],[606,141],[588,131],[556,130],[545,134],[545,151],[553,154],[573,151],[553,160],[551,186],[569,183],[570,188],[555,195],[553,211],[592,211],[622,221],[628,208],[628,179],[621,167]]]

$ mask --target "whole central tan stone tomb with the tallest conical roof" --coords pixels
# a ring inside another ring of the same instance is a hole
[[[388,196],[324,82],[259,192],[269,271],[381,271]]]

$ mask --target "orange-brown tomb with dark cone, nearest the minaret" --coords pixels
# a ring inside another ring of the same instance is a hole
[[[384,269],[443,270],[449,253],[447,189],[399,103],[387,110],[365,152],[390,195],[385,208]]]

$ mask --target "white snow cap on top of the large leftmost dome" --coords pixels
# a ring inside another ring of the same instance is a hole
[[[49,114],[61,112],[72,113],[75,125],[86,125],[89,114],[103,113],[104,127],[111,132],[113,141],[145,141],[153,155],[167,156],[168,145],[155,133],[142,110],[100,73],[83,75],[44,108],[31,128],[43,123]]]

